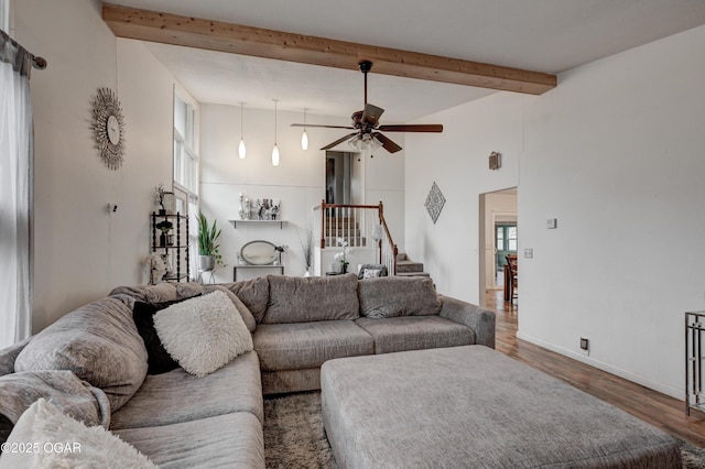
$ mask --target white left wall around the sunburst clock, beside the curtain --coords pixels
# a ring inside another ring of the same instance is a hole
[[[139,43],[117,41],[95,0],[15,1],[18,41],[48,61],[31,80],[34,108],[33,330],[144,283],[152,192],[171,181],[173,79]],[[119,74],[118,74],[119,70]],[[117,89],[127,154],[111,171],[94,148],[91,102]],[[118,205],[108,215],[107,204]]]

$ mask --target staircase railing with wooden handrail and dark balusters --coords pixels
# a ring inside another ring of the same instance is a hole
[[[384,220],[384,207],[379,205],[348,205],[321,203],[321,249],[341,247],[372,248],[377,260],[397,274],[399,249]]]

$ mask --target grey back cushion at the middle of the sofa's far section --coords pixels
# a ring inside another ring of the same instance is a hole
[[[308,323],[359,317],[357,275],[269,275],[269,304],[262,323]]]

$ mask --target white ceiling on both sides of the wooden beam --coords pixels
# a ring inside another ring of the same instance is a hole
[[[557,74],[705,24],[705,0],[110,0],[111,3]],[[362,74],[148,44],[199,102],[347,117]],[[693,57],[703,59],[703,57]],[[369,75],[383,123],[406,122],[492,90]],[[560,80],[558,80],[558,86]],[[315,119],[310,120],[315,123]]]

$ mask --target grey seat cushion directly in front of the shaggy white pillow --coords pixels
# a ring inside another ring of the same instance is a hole
[[[260,362],[254,352],[204,378],[181,368],[148,375],[132,399],[112,414],[110,429],[171,425],[232,412],[249,412],[263,421]]]

